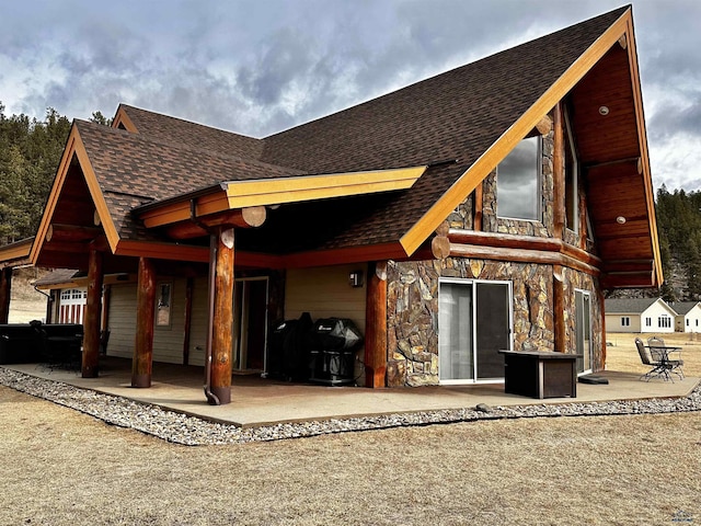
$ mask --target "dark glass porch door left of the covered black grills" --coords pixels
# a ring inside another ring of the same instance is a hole
[[[238,370],[265,370],[267,278],[237,279],[234,358]]]

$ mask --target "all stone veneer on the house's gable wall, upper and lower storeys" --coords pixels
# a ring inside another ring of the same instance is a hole
[[[581,178],[581,206],[584,184]],[[503,219],[496,215],[496,170],[482,186],[482,225],[487,232],[552,237],[553,132],[542,137],[542,221]],[[451,228],[473,229],[474,194],[448,216]],[[565,241],[579,245],[581,238],[565,230]],[[591,249],[590,247],[588,247]],[[602,368],[602,316],[598,284],[587,274],[565,268],[564,300],[567,352],[574,352],[575,288],[590,291],[594,369]],[[514,348],[553,350],[553,268],[551,265],[448,258],[444,261],[390,262],[388,265],[388,385],[438,384],[438,279],[459,277],[510,281],[514,288]]]

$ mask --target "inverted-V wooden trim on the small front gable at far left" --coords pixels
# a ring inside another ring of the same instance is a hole
[[[46,202],[46,208],[44,209],[42,221],[39,222],[39,227],[36,232],[36,242],[32,247],[32,252],[30,254],[32,264],[36,264],[39,252],[42,251],[44,243],[47,241],[46,237],[51,230],[51,218],[54,217],[54,211],[56,210],[56,205],[58,204],[73,157],[78,160],[78,164],[80,165],[83,178],[85,179],[85,184],[88,185],[88,191],[90,192],[93,205],[95,206],[97,217],[100,218],[100,224],[105,231],[105,236],[113,252],[117,241],[119,240],[119,235],[112,221],[112,216],[110,215],[107,204],[102,195],[102,190],[100,188],[100,183],[95,176],[90,158],[88,157],[88,151],[80,138],[80,132],[78,130],[78,126],[73,124],[68,136],[66,149],[64,150],[64,155],[58,165],[58,171],[56,172],[56,178],[54,179],[54,185],[51,186],[51,191],[49,192],[48,199]]]

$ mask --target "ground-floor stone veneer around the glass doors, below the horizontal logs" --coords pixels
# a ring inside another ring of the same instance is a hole
[[[553,271],[550,265],[461,258],[388,265],[388,385],[438,384],[439,277],[510,281],[514,350],[553,351]],[[588,274],[563,271],[566,351],[574,352],[575,288],[590,291],[594,369],[602,367],[601,301]]]

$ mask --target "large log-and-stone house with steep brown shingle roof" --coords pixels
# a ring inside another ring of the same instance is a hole
[[[84,273],[83,377],[108,328],[135,387],[204,365],[210,403],[304,312],[359,328],[368,387],[498,381],[498,350],[600,370],[604,290],[663,282],[631,8],[262,139],[76,121],[0,262]]]

